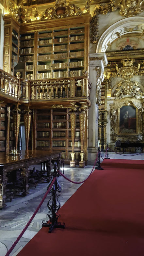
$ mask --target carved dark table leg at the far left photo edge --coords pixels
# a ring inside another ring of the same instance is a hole
[[[6,173],[0,172],[0,209],[6,207],[6,185],[8,182],[8,178],[6,177]]]

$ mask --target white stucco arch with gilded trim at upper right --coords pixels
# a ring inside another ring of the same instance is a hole
[[[118,32],[118,33],[117,33]],[[102,36],[100,37],[96,49],[96,53],[105,52],[108,44],[113,42],[116,38],[128,33],[142,33],[144,32],[144,17],[142,16],[133,16],[122,19],[109,28],[107,28]]]

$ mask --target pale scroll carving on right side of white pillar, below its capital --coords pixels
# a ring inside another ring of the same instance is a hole
[[[104,79],[104,73],[100,67],[95,68],[97,72],[96,76],[96,104],[101,105],[101,83]]]

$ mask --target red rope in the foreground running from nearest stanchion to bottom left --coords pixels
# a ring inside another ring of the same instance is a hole
[[[11,246],[11,248],[8,250],[7,254],[5,256],[8,256],[12,250],[14,249],[14,247],[17,245],[17,243],[19,242],[19,240],[21,239],[21,237],[23,236],[24,232],[26,231],[26,229],[28,228],[28,226],[30,225],[30,223],[32,222],[33,218],[35,217],[35,215],[37,214],[37,212],[39,211],[42,203],[44,202],[44,200],[46,199],[48,193],[50,192],[54,182],[56,180],[56,177],[53,179],[52,183],[50,184],[50,187],[48,188],[47,192],[45,193],[43,199],[41,200],[39,206],[37,207],[37,209],[35,210],[34,214],[32,215],[32,217],[30,218],[30,220],[28,221],[28,223],[26,224],[25,228],[23,229],[23,231],[20,233],[20,235],[18,236],[18,238],[16,239],[16,241],[14,242],[14,244]]]

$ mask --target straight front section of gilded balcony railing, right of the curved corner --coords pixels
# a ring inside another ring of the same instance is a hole
[[[60,99],[90,96],[91,84],[87,77],[59,78],[30,81],[31,100]]]

